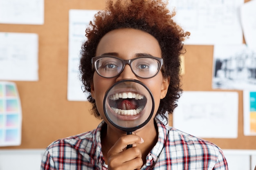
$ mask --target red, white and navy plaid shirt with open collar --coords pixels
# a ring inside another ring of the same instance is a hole
[[[218,146],[155,120],[158,141],[141,170],[228,170]],[[104,121],[90,132],[53,142],[45,150],[41,170],[107,170],[101,152],[103,124]]]

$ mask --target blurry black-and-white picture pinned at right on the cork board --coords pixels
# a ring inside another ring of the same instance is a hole
[[[212,87],[256,89],[256,51],[241,45],[215,45]]]

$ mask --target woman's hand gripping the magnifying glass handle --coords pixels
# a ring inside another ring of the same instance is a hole
[[[143,165],[141,150],[136,144],[144,141],[138,135],[120,137],[108,151],[108,170],[135,170]],[[126,147],[132,144],[132,148]]]

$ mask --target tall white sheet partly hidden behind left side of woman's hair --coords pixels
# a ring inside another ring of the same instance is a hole
[[[70,101],[86,101],[80,81],[79,59],[82,43],[85,42],[85,29],[97,10],[70,9],[68,40],[68,80],[67,99]]]

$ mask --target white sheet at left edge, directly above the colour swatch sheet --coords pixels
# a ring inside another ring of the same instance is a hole
[[[38,35],[0,33],[0,80],[38,80]]]

